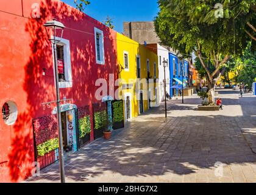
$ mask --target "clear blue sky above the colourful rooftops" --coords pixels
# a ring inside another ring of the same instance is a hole
[[[74,0],[62,0],[75,6]],[[115,30],[123,32],[124,21],[152,21],[158,12],[157,0],[90,0],[85,13],[99,21],[113,18]]]

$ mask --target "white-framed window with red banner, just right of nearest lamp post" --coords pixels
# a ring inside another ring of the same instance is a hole
[[[56,46],[59,87],[69,88],[73,86],[69,40],[60,37],[56,40],[59,41]]]

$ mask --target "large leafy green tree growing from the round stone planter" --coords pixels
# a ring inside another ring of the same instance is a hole
[[[245,29],[254,21],[256,0],[216,1],[158,0],[160,12],[155,31],[162,44],[183,54],[194,52],[205,69],[208,101],[214,101],[215,83],[232,55],[241,55],[251,40]],[[223,13],[222,15],[220,13]],[[235,24],[235,25],[234,25]],[[210,66],[205,63],[210,59]]]

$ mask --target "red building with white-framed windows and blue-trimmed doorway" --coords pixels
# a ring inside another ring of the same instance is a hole
[[[59,156],[52,46],[43,24],[56,18],[66,26],[57,46],[66,151],[97,137],[93,113],[106,106],[95,84],[118,78],[116,32],[57,0],[1,0],[0,7],[0,182],[19,182],[34,161],[46,166]],[[91,132],[79,138],[83,120]]]

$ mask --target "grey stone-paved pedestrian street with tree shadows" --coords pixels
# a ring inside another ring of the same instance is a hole
[[[66,182],[256,182],[256,98],[219,90],[224,110],[197,96],[168,101],[65,160]],[[27,182],[59,182],[59,164]]]

